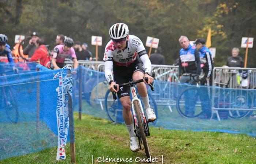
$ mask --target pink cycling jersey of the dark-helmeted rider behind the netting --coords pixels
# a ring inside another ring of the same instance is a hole
[[[64,66],[65,58],[76,59],[76,53],[73,47],[69,51],[64,51],[63,47],[63,44],[55,46],[52,56],[53,59],[56,59],[56,64],[60,68]]]

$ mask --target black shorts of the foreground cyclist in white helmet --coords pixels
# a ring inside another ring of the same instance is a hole
[[[128,66],[113,65],[114,80],[117,84],[127,83],[132,81],[132,74],[140,71],[145,74],[142,62],[135,60]],[[130,95],[130,86],[119,86],[117,92],[119,98]]]

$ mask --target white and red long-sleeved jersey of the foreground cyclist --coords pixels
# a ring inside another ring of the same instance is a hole
[[[112,40],[105,47],[103,60],[105,62],[105,77],[108,79],[108,82],[113,80],[113,64],[120,67],[127,67],[136,60],[141,60],[145,73],[150,74],[151,72],[151,63],[142,41],[137,36],[129,35],[126,43],[127,46],[124,50],[117,50]]]

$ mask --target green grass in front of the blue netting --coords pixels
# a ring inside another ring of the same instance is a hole
[[[139,159],[146,158],[143,150],[137,153],[129,150],[125,125],[112,124],[108,120],[86,114],[82,115],[81,121],[78,113],[74,117],[76,163],[105,163],[98,162],[99,157],[131,158],[131,163],[142,163]],[[148,145],[152,157],[158,158],[156,163],[256,163],[256,140],[246,134],[191,132],[154,127],[150,131]],[[54,147],[25,156],[11,157],[0,161],[0,164],[70,163],[69,144],[66,147],[67,159],[64,161],[56,161],[56,149]]]

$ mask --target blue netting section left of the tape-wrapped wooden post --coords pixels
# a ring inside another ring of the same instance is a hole
[[[57,146],[57,72],[0,77],[0,160]]]

